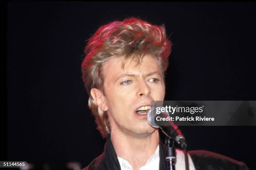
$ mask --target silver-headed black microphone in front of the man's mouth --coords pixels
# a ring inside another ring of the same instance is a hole
[[[156,108],[160,106],[152,107],[148,111],[148,123],[155,128],[160,128],[162,132],[169,138],[174,139],[181,147],[182,149],[187,148],[187,144],[185,141],[185,137],[183,136],[182,132],[179,130],[178,126],[174,124],[171,120],[164,121],[164,125],[158,121],[155,121],[156,117],[161,118],[168,118],[169,113],[168,112],[161,112],[160,114],[156,113]],[[161,107],[160,109],[161,110]],[[159,111],[158,111],[159,112]]]

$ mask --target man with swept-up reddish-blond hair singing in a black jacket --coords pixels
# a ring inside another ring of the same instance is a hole
[[[84,170],[167,170],[159,129],[148,124],[147,112],[151,101],[164,100],[171,46],[164,26],[137,18],[104,25],[90,38],[82,78],[107,143]],[[176,169],[184,170],[182,150],[176,156]],[[206,151],[191,152],[188,158],[189,170],[247,168]]]

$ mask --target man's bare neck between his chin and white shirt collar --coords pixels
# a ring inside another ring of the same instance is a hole
[[[111,132],[111,141],[118,157],[127,160],[133,170],[144,166],[159,144],[159,132],[144,137]]]

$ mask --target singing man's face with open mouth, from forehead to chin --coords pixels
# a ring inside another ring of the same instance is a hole
[[[148,124],[147,111],[151,101],[164,100],[165,84],[161,68],[155,58],[146,55],[142,62],[111,58],[102,68],[104,101],[108,109],[110,129],[133,135],[147,135],[155,131]],[[143,108],[144,107],[144,108]]]

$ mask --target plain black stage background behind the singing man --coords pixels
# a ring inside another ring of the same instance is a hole
[[[105,141],[87,108],[80,66],[101,25],[138,17],[165,24],[173,42],[165,100],[256,100],[255,3],[8,4],[8,160],[84,167]],[[256,127],[180,127],[189,150],[256,169]]]

